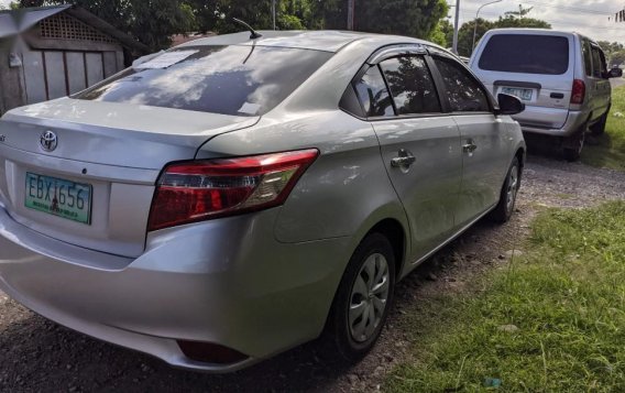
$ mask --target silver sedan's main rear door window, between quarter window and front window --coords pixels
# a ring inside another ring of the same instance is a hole
[[[440,102],[423,57],[403,56],[380,65],[393,95],[397,114],[440,112]]]

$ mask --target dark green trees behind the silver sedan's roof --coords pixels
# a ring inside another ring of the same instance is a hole
[[[173,34],[241,31],[239,18],[254,29],[272,29],[272,0],[20,0],[21,7],[73,3],[131,34],[152,50],[167,47]],[[347,0],[276,0],[278,30],[338,29],[347,25]],[[442,43],[439,21],[445,0],[357,1],[355,29],[403,34]]]

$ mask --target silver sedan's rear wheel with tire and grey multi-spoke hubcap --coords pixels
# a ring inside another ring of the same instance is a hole
[[[346,360],[362,359],[375,345],[395,287],[395,255],[381,233],[364,238],[341,279],[328,318],[327,334],[332,350]]]

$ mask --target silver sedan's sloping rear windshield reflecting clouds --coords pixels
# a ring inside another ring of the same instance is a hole
[[[261,116],[331,56],[267,46],[184,47],[130,67],[74,98]]]

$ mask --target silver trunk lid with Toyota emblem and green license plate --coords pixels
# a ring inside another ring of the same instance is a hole
[[[75,99],[17,109],[0,120],[0,203],[43,234],[138,256],[161,170],[257,120]]]

